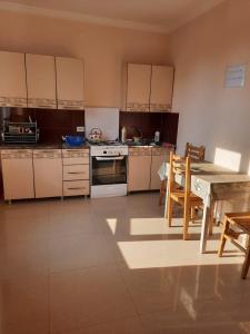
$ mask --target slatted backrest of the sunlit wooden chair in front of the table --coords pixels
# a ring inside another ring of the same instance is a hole
[[[190,173],[190,157],[180,157],[170,153],[170,168],[168,177],[169,193],[177,189],[176,178],[184,178],[184,195],[188,197],[191,193],[191,173]]]

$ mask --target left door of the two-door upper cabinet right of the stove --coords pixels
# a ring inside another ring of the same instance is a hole
[[[127,111],[149,111],[151,65],[128,63]]]

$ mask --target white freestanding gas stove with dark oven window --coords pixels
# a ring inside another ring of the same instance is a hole
[[[127,195],[128,146],[119,141],[90,143],[91,197]]]

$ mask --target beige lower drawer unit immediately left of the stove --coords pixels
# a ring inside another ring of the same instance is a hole
[[[89,195],[89,149],[63,149],[63,196]]]

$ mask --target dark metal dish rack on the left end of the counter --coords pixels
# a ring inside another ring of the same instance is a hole
[[[2,141],[7,144],[36,144],[39,139],[37,121],[14,122],[3,121]]]

